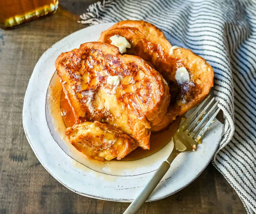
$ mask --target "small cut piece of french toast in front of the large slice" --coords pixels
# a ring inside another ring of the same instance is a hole
[[[75,124],[64,134],[79,152],[98,161],[120,160],[138,147],[124,132],[98,121]]]

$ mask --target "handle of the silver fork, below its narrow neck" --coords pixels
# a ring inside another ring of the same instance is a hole
[[[170,164],[171,163],[164,161],[160,165],[160,167],[154,173],[154,176],[148,181],[147,185],[143,188],[137,198],[133,200],[133,202],[129,205],[129,207],[126,209],[126,211],[124,211],[123,214],[135,214],[138,212],[140,207],[144,204],[149,195],[153,192],[158,183],[164,177],[165,173],[170,168]]]

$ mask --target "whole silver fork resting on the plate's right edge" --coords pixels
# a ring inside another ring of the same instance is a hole
[[[215,101],[214,97],[209,100],[210,96],[211,95],[209,94],[174,133],[172,137],[174,146],[171,154],[166,161],[160,165],[160,167],[154,173],[154,176],[148,181],[147,185],[133,200],[123,214],[135,214],[138,212],[140,207],[164,177],[165,173],[169,170],[172,161],[178,156],[178,154],[182,152],[195,151],[196,145],[200,142],[205,131],[207,131],[220,110],[220,108],[216,107],[218,105],[218,101]],[[204,105],[205,107],[203,108]],[[199,113],[202,108],[203,110]],[[199,114],[197,115],[197,113]],[[208,118],[209,115],[211,115],[210,119]]]

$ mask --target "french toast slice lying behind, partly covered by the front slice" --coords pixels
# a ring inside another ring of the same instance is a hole
[[[191,50],[172,46],[163,32],[154,25],[145,21],[121,21],[102,32],[98,41],[111,43],[110,38],[115,35],[125,37],[131,44],[126,49],[127,54],[139,56],[149,62],[168,82],[171,96],[168,113],[151,130],[165,128],[177,115],[193,108],[210,92],[214,79],[212,67]],[[188,73],[185,83],[177,81],[178,69],[184,71],[179,72],[183,80],[184,74],[186,76],[186,72]]]

